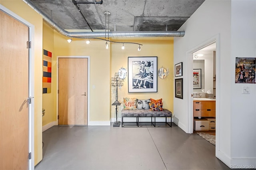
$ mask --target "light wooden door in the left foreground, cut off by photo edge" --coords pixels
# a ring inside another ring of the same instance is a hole
[[[28,27],[0,11],[0,169],[28,169]]]

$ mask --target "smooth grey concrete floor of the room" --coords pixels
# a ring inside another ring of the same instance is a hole
[[[172,127],[54,126],[35,170],[223,170],[215,146]]]

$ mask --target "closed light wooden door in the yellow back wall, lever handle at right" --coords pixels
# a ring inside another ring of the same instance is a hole
[[[87,125],[88,58],[59,58],[58,124]]]

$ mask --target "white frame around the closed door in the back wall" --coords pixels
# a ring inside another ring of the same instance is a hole
[[[88,71],[88,76],[87,76],[87,126],[90,125],[90,56],[76,56],[76,55],[70,55],[70,56],[57,56],[57,66],[59,65],[59,58],[87,58],[88,59],[88,63],[87,63],[87,71]],[[56,82],[56,89],[57,89],[57,93],[56,93],[56,117],[58,118],[58,114],[59,114],[59,93],[58,93],[58,89],[59,89],[59,68],[57,68],[57,82]],[[59,120],[57,119],[57,125],[59,125]]]

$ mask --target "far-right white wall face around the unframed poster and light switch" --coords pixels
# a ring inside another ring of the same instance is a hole
[[[256,0],[232,0],[231,16],[231,164],[252,158],[256,168],[256,84],[234,83],[235,58],[256,57]]]

